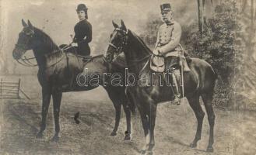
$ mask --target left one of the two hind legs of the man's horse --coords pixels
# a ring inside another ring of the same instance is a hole
[[[189,105],[195,112],[195,117],[198,121],[198,127],[195,133],[195,139],[193,142],[190,144],[191,147],[196,147],[198,140],[201,140],[201,133],[202,133],[202,122],[205,116],[205,112],[203,112],[202,107],[199,103],[199,95],[191,95],[188,98]]]

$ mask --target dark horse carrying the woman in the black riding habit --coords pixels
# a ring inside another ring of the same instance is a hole
[[[106,80],[103,79],[103,76],[100,76],[99,84],[89,83],[86,86],[79,85],[76,80],[78,77],[77,75],[83,72],[88,76],[88,81],[90,80],[91,75],[95,73],[100,75],[108,72],[124,74],[124,67],[107,63],[103,55],[93,57],[88,62],[84,62],[82,57],[73,53],[63,52],[53,40],[51,40],[50,36],[42,30],[32,26],[30,21],[26,24],[26,22],[22,20],[22,24],[23,30],[19,33],[19,39],[12,55],[14,59],[19,60],[27,50],[33,50],[33,54],[37,60],[39,67],[37,77],[42,87],[43,100],[41,113],[42,120],[37,137],[42,137],[44,129],[46,128],[47,112],[51,96],[53,98],[55,125],[55,134],[52,140],[57,141],[59,139],[58,133],[60,132],[59,112],[62,92],[88,91],[101,84],[103,85],[103,88],[106,89],[116,110],[115,125],[110,136],[115,136],[117,134],[116,132],[121,115],[121,105],[123,105],[127,121],[127,131],[125,132],[124,140],[130,140],[131,112],[128,107],[128,98],[126,98],[125,95],[125,87],[114,87],[110,84],[110,81],[103,83],[103,81]]]

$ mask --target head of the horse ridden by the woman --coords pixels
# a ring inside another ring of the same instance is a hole
[[[22,19],[23,30],[19,33],[19,38],[16,43],[14,50],[12,51],[12,57],[16,60],[19,60],[27,50],[33,49],[33,37],[34,37],[34,28],[28,20],[27,24]]]

